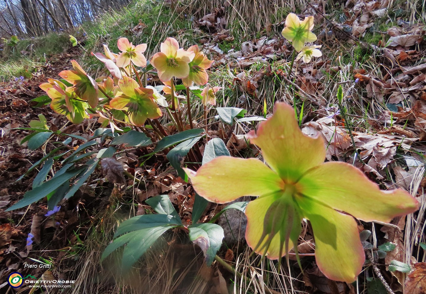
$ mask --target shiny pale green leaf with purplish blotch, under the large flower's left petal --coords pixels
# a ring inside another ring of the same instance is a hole
[[[213,263],[214,257],[222,245],[223,237],[223,228],[214,223],[200,223],[189,227],[189,238],[204,252],[207,266]]]

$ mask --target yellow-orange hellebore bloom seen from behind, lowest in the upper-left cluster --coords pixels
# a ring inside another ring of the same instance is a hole
[[[155,103],[152,89],[140,88],[131,77],[123,77],[118,81],[123,95],[109,101],[109,106],[118,110],[127,110],[130,122],[143,126],[147,118],[161,117],[161,110]]]

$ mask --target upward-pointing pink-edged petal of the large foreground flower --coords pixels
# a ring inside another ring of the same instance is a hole
[[[250,142],[262,149],[266,163],[283,179],[296,181],[308,169],[324,162],[325,146],[322,138],[311,138],[302,133],[294,118],[294,109],[276,103],[274,114],[250,131]]]

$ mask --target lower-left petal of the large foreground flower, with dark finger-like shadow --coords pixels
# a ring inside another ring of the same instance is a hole
[[[250,201],[245,209],[247,244],[256,253],[267,254],[269,259],[287,254],[300,234],[299,214],[287,200],[281,193],[275,193]]]

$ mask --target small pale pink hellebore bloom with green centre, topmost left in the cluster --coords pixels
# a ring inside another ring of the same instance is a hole
[[[117,60],[118,67],[126,67],[132,62],[135,66],[145,67],[147,66],[147,59],[145,58],[144,53],[147,50],[147,44],[139,44],[134,46],[132,43],[129,43],[127,38],[120,38],[117,41],[118,49],[122,52]]]

